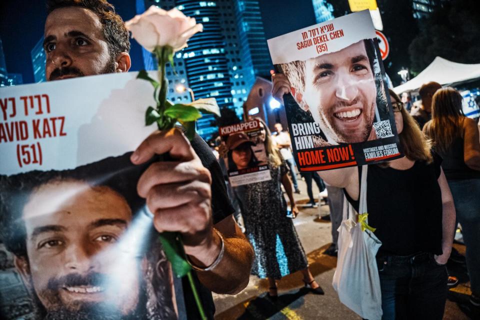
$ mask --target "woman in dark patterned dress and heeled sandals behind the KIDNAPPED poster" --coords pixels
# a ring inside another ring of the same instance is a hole
[[[271,180],[233,188],[245,224],[245,235],[255,251],[252,274],[268,278],[268,295],[271,298],[277,297],[276,280],[296,271],[302,272],[306,287],[316,294],[323,294],[308,269],[305,252],[291,218],[287,217],[281,185],[290,200],[293,218],[298,214],[287,174],[288,166],[273,145],[270,130],[261,119],[260,127],[260,140],[265,145]]]

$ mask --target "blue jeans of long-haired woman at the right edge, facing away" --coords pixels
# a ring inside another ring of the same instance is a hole
[[[471,291],[480,295],[480,179],[449,180],[465,243]]]

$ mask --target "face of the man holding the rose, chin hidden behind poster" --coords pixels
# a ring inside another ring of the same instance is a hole
[[[85,8],[64,7],[48,14],[43,48],[48,81],[115,71],[98,16]]]

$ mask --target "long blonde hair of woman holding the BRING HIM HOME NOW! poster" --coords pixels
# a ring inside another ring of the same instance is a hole
[[[401,101],[400,97],[392,89],[388,89],[388,92],[396,102]],[[416,124],[416,121],[406,108],[402,107],[400,112],[403,119],[403,129],[398,136],[403,153],[410,160],[430,163],[433,160],[430,152],[431,141],[425,138],[425,135],[420,131],[418,124]]]

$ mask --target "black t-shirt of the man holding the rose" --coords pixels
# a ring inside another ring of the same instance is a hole
[[[215,156],[211,152],[208,145],[203,141],[203,139],[195,134],[193,140],[190,141],[193,150],[198,155],[201,160],[201,163],[206,167],[211,174],[211,209],[213,223],[221,221],[223,218],[232,214],[234,209],[231,206],[230,200],[228,198],[228,193],[226,192],[225,181],[223,180],[223,174],[220,169]],[[196,289],[200,296],[200,300],[203,305],[208,319],[213,319],[213,314],[215,313],[215,305],[213,304],[213,298],[211,296],[210,290],[204,287],[196,277],[195,272],[193,272],[193,278],[195,281]],[[182,278],[182,287],[183,287],[183,297],[185,300],[185,308],[187,319],[200,319],[200,314],[191,293],[190,284],[186,276]]]

